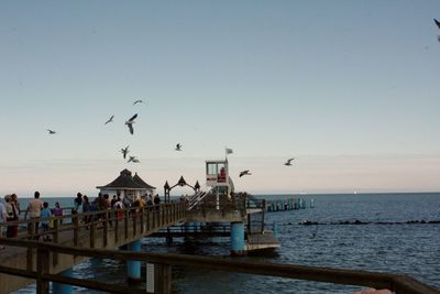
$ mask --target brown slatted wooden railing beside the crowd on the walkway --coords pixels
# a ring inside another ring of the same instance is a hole
[[[157,227],[170,222],[177,222],[185,218],[187,211],[184,202],[167,203],[161,205],[131,207],[128,209],[108,209],[84,214],[52,216],[50,220],[31,218],[16,221],[0,222],[0,230],[7,231],[8,227],[19,227],[14,238],[38,240],[51,239],[58,242],[63,232],[70,232],[74,246],[79,246],[80,237],[89,235],[89,247],[96,247],[95,232],[97,229],[103,231],[103,246],[107,246],[108,232],[114,232],[114,241],[131,235],[142,235]],[[40,222],[48,221],[50,229],[42,230]],[[3,233],[4,235],[4,233]]]

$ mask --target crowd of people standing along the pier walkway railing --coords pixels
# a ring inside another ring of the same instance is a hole
[[[73,203],[72,214],[86,214],[82,220],[85,224],[88,224],[94,220],[92,218],[95,220],[102,218],[103,214],[94,215],[87,213],[114,209],[114,216],[120,218],[123,217],[123,210],[121,209],[138,209],[160,203],[161,199],[157,194],[155,196],[152,194],[143,195],[133,200],[130,197],[122,197],[121,195],[113,195],[110,199],[108,194],[99,193],[98,197],[91,200],[87,195],[78,192]],[[34,220],[30,226],[33,226],[32,230],[36,236],[35,239],[40,239],[38,230],[41,229],[43,241],[51,241],[50,233],[44,232],[53,227],[54,218],[63,216],[63,210],[59,203],[55,203],[54,207],[50,208],[48,203],[40,198],[40,192],[34,193],[34,198],[29,202],[25,210],[20,209],[20,202],[16,194],[6,195],[4,199],[0,199],[0,237],[14,238],[18,236],[19,225],[8,225],[8,222],[19,220],[20,213],[24,211],[24,219],[29,217],[29,219]],[[4,247],[0,247],[0,250],[2,249]]]

